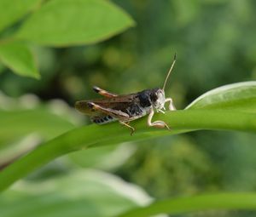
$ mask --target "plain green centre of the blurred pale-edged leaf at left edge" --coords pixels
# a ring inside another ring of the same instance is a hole
[[[0,146],[36,133],[44,140],[74,128],[67,118],[54,114],[44,107],[14,111],[0,110]]]

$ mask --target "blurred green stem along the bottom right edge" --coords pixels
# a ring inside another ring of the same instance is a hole
[[[256,209],[254,193],[218,193],[193,197],[171,198],[152,203],[144,208],[135,208],[118,217],[148,217],[153,214],[183,214],[205,210],[224,209]]]

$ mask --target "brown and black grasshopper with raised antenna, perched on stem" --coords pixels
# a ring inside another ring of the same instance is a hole
[[[176,54],[162,89],[145,89],[135,94],[118,95],[94,86],[93,90],[104,96],[104,98],[79,100],[75,103],[75,108],[89,116],[93,123],[105,124],[119,121],[119,123],[131,129],[131,135],[134,133],[135,128],[130,125],[130,122],[146,115],[148,115],[149,127],[170,129],[163,121],[157,120],[152,122],[152,117],[154,116],[154,110],[165,113],[166,102],[170,103],[170,111],[176,110],[172,98],[166,98],[165,96],[166,82],[175,62]]]

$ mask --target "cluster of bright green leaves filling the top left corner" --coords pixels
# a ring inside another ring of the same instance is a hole
[[[96,43],[134,25],[128,14],[102,0],[15,3],[0,2],[0,30],[5,30],[0,39],[0,60],[26,77],[39,77],[31,43],[53,47]],[[20,20],[25,14],[29,15]],[[20,25],[9,31],[7,27],[19,21]]]

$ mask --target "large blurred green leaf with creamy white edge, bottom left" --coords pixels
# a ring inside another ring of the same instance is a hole
[[[113,217],[151,202],[137,186],[97,170],[18,184],[1,195],[1,217]]]

